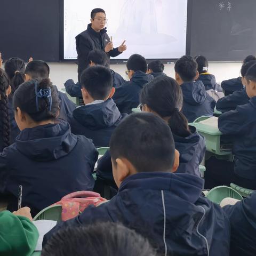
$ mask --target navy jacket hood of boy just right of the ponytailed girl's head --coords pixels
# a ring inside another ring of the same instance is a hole
[[[181,86],[183,100],[190,105],[202,105],[206,99],[206,91],[202,81],[186,82]]]

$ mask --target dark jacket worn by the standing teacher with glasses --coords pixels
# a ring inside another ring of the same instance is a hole
[[[101,29],[100,32],[96,32],[92,29],[91,24],[88,24],[87,29],[76,36],[78,81],[80,81],[80,76],[83,70],[89,66],[89,61],[87,60],[89,52],[92,50],[104,51],[108,42],[110,42],[110,39],[107,35],[107,30]],[[118,48],[114,48],[107,53],[109,58],[110,56],[116,57],[119,54],[121,54],[121,52],[118,51]]]

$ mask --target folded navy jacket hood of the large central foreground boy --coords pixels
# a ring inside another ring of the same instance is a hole
[[[168,190],[171,194],[190,203],[195,203],[202,194],[203,179],[186,173],[141,172],[126,178],[118,193],[129,189]]]

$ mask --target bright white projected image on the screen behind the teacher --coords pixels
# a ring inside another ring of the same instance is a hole
[[[64,59],[77,58],[75,37],[86,30],[97,7],[106,11],[114,47],[126,40],[127,50],[114,59],[133,53],[174,59],[186,53],[187,0],[64,0]]]

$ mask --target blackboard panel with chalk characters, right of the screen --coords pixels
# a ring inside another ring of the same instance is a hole
[[[256,54],[255,0],[191,1],[191,55],[238,61]]]

